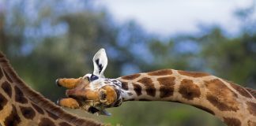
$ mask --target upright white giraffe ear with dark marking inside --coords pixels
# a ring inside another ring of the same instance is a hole
[[[93,74],[96,76],[104,77],[104,71],[107,68],[107,54],[104,48],[98,50],[93,59]]]

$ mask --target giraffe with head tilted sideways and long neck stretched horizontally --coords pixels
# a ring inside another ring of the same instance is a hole
[[[168,101],[197,107],[228,126],[256,126],[256,91],[205,72],[162,69],[117,79],[104,77],[107,55],[100,49],[92,59],[94,72],[62,78],[66,96],[58,104],[89,113],[110,115],[105,109],[127,101]]]

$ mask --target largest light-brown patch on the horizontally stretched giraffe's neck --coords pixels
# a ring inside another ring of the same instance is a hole
[[[207,87],[206,98],[221,111],[237,111],[239,103],[237,95],[218,79],[205,81]]]

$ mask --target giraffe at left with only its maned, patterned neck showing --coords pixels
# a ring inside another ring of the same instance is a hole
[[[100,126],[66,113],[28,87],[0,51],[0,126]]]

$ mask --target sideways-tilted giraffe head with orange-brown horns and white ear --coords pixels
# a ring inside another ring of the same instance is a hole
[[[107,54],[100,49],[93,57],[93,73],[77,79],[58,79],[59,86],[66,87],[66,96],[58,101],[60,106],[85,109],[89,113],[110,115],[105,108],[119,106],[122,102],[121,82],[104,77]]]

